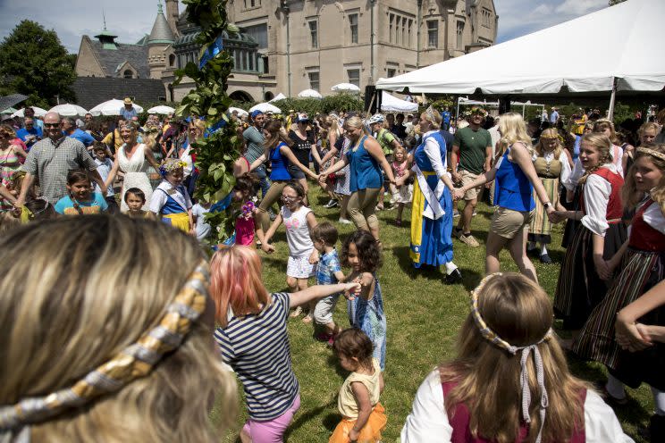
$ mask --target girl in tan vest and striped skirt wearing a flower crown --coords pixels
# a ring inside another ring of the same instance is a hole
[[[559,185],[568,180],[570,176],[570,163],[566,149],[559,138],[559,131],[555,128],[543,130],[540,140],[534,146],[535,173],[543,182],[543,188],[550,202],[554,207],[559,205]],[[551,221],[547,217],[545,207],[540,200],[535,199],[535,213],[529,224],[529,247],[528,250],[535,250],[535,244],[540,244],[541,263],[551,263],[550,255],[547,254],[547,246],[551,243]]]

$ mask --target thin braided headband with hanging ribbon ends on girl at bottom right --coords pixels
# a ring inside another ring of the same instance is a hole
[[[480,311],[478,310],[478,294],[483,290],[485,284],[489,280],[492,280],[492,278],[495,276],[501,276],[501,275],[503,275],[501,272],[496,272],[486,276],[476,287],[476,289],[471,291],[471,315],[473,316],[474,321],[476,322],[476,326],[480,330],[480,334],[484,337],[484,339],[492,342],[492,344],[495,345],[496,347],[501,347],[501,349],[508,351],[511,355],[516,355],[518,351],[522,351],[522,357],[520,360],[521,371],[519,372],[519,380],[520,380],[520,386],[522,388],[522,416],[526,423],[531,422],[531,415],[529,414],[529,406],[531,405],[531,389],[529,389],[529,374],[526,362],[528,361],[529,355],[533,351],[536,380],[538,381],[538,387],[541,389],[541,401],[540,401],[540,412],[539,412],[541,419],[541,426],[540,430],[538,430],[538,437],[536,437],[535,443],[541,443],[541,439],[543,437],[543,424],[545,422],[545,408],[547,408],[547,406],[549,405],[549,399],[547,397],[547,390],[545,389],[543,357],[541,356],[540,351],[538,350],[538,345],[543,343],[543,341],[545,340],[551,339],[551,330],[548,330],[547,333],[545,333],[543,339],[540,339],[537,343],[533,345],[527,345],[524,347],[515,347],[510,345],[504,339],[501,339],[501,337],[499,337],[499,335],[496,332],[494,332],[493,330],[490,329],[489,326],[487,326],[487,323],[484,322],[483,316],[480,314]]]

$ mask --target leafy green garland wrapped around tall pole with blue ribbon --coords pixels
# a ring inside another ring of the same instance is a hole
[[[206,131],[206,138],[192,144],[197,155],[199,176],[195,193],[199,201],[215,204],[231,192],[235,184],[233,177],[233,161],[240,156],[240,139],[233,121],[226,114],[231,105],[231,98],[226,94],[227,79],[231,74],[233,60],[228,51],[221,46],[222,32],[231,29],[226,21],[227,0],[184,0],[190,23],[200,28],[197,43],[201,45],[199,58],[205,57],[207,62],[199,69],[198,63],[187,63],[184,69],[176,71],[174,85],[184,77],[194,80],[196,89],[189,91],[176,115],[189,116],[196,114],[205,117],[206,129],[223,125],[218,130]],[[220,49],[218,52],[214,48]],[[228,238],[233,231],[234,223],[231,211],[208,213],[206,221],[210,223],[218,242]]]

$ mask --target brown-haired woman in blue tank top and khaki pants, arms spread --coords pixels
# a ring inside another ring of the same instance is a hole
[[[257,160],[249,166],[249,171],[257,169],[266,161],[271,163],[270,172],[270,188],[265,194],[261,204],[258,205],[258,220],[261,222],[261,228],[264,232],[270,227],[270,217],[268,217],[268,209],[279,201],[282,196],[282,189],[293,178],[289,173],[289,165],[295,165],[300,171],[305,172],[312,179],[316,179],[317,175],[311,171],[307,166],[300,163],[293,151],[290,150],[290,145],[293,141],[289,138],[286,131],[282,128],[282,121],[271,120],[264,126],[265,137],[265,153],[260,155]]]

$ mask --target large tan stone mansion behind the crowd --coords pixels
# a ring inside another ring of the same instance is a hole
[[[173,87],[174,72],[198,62],[198,29],[179,13],[177,0],[165,2],[150,36],[134,45],[144,48],[142,66],[132,56],[113,67],[126,63],[126,69],[109,72],[100,55],[110,47],[102,33],[99,43],[81,39],[77,74],[162,79],[167,100],[181,100],[193,83],[183,79]],[[364,90],[377,79],[491,46],[499,21],[492,0],[228,0],[227,12],[240,28],[224,37],[235,61],[228,93],[257,102],[310,88],[325,96],[338,83]]]

